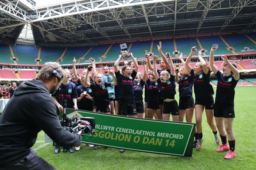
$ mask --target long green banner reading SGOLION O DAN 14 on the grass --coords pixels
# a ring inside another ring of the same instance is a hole
[[[68,117],[95,118],[95,134],[83,143],[191,157],[195,124],[95,113],[66,108]]]

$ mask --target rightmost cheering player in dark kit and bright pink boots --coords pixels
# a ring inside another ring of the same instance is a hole
[[[222,145],[216,152],[224,152],[230,150],[224,159],[233,159],[236,157],[235,146],[236,138],[233,132],[233,121],[235,118],[234,111],[234,97],[235,88],[239,81],[239,72],[236,69],[236,63],[229,62],[226,55],[222,55],[223,63],[222,73],[214,65],[214,52],[218,49],[211,49],[210,52],[210,64],[213,73],[218,78],[215,106],[214,106],[214,117],[216,125],[218,127]],[[223,127],[225,125],[225,129]],[[225,131],[226,130],[226,131]],[[228,143],[227,145],[227,136]]]

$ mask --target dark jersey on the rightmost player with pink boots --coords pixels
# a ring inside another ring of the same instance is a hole
[[[218,78],[218,83],[215,101],[229,104],[234,103],[235,87],[238,80],[234,79],[234,74],[225,76],[220,71],[216,73],[216,76]]]

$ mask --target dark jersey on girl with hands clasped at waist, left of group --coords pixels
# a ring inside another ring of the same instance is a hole
[[[86,92],[87,94],[89,94],[91,97],[93,97],[93,92],[92,89],[89,87],[84,87],[83,85],[79,85],[77,87],[77,94],[78,96],[81,96],[81,94],[83,92]],[[77,103],[77,107],[79,110],[88,110],[88,111],[92,111],[93,110],[93,101],[91,99],[87,99],[85,96],[83,97],[83,99],[81,99],[81,101],[79,101]]]

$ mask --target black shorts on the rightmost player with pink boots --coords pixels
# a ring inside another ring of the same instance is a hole
[[[215,102],[214,117],[235,118],[234,103]]]

